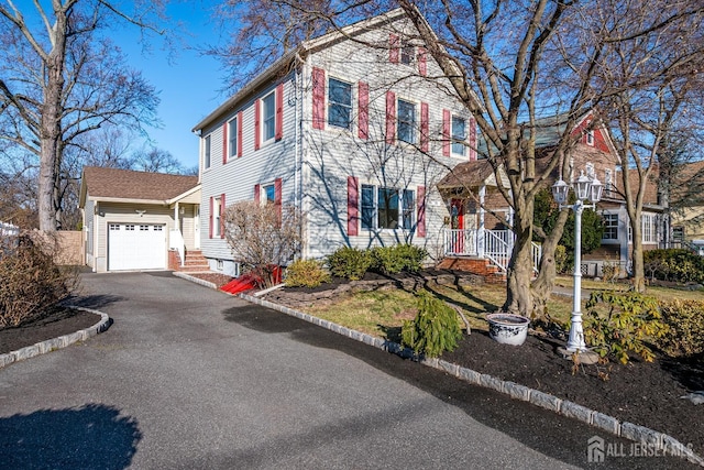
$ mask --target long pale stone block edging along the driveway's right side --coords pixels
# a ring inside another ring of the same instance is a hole
[[[311,323],[314,325],[329,329],[330,331],[334,331],[342,336],[346,336],[354,340],[373,346],[383,351],[398,354],[402,358],[405,358],[405,359],[415,358],[415,353],[411,349],[403,348],[400,345],[396,342],[387,341],[382,338],[366,335],[361,331],[356,331],[356,330],[343,327],[341,325],[334,324],[332,321],[323,320],[321,318],[314,317],[312,315],[304,314],[302,311],[298,311],[293,308],[278,305],[273,302],[252,297],[246,294],[239,294],[239,297],[248,302],[258,304],[263,307],[272,308],[274,310],[284,313],[286,315],[300,318],[301,320]],[[652,445],[659,450],[667,451],[671,455],[681,456],[683,458],[686,458],[689,461],[693,463],[704,467],[704,459],[702,457],[697,456],[696,453],[694,453],[694,451],[692,451],[685,445],[683,445],[682,442],[680,442],[679,440],[676,440],[675,438],[667,434],[658,433],[650,428],[638,426],[632,423],[620,422],[613,416],[598,413],[585,406],[578,405],[576,403],[569,402],[566,400],[561,400],[548,393],[540,392],[514,382],[503,381],[498,378],[495,378],[488,374],[482,374],[476,371],[473,371],[472,369],[462,368],[458,364],[443,361],[442,359],[424,358],[424,359],[420,359],[419,362],[425,365],[431,367],[433,369],[438,369],[440,371],[447,372],[473,385],[479,385],[486,389],[495,390],[497,392],[509,395],[512,398],[529,402],[534,405],[540,406],[541,408],[550,409],[563,416],[579,419],[601,430],[605,430],[607,433],[624,437],[626,439]]]

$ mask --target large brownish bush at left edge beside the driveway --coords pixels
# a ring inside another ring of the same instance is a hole
[[[77,286],[75,269],[57,266],[56,251],[38,237],[21,234],[3,240],[0,255],[0,328],[46,317]]]

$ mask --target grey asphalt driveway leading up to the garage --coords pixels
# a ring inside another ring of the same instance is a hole
[[[85,274],[110,329],[0,370],[3,469],[683,468],[630,444],[172,276]]]

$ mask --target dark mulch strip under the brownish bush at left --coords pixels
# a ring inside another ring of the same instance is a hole
[[[90,328],[98,321],[100,321],[100,315],[64,308],[46,318],[14,328],[0,329],[0,354]]]

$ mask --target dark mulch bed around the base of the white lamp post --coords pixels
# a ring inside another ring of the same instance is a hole
[[[659,356],[654,362],[636,357],[626,365],[575,368],[558,353],[561,346],[564,342],[534,335],[522,346],[507,346],[472,331],[442,359],[669,434],[704,455],[704,405],[680,398],[704,390],[703,357],[674,361]]]

